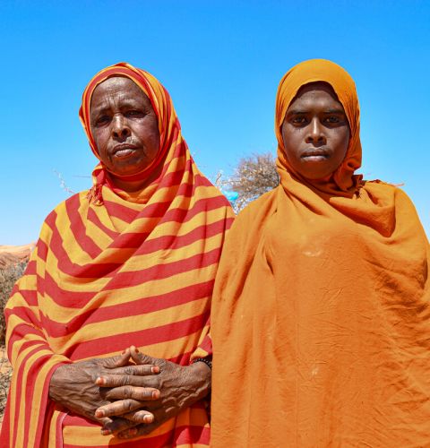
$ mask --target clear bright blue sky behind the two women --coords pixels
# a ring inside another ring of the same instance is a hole
[[[37,239],[96,159],[78,108],[101,68],[153,73],[209,177],[276,150],[281,76],[323,57],[361,103],[366,178],[404,183],[430,235],[429,1],[0,1],[0,245]]]

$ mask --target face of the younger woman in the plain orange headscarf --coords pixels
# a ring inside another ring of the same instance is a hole
[[[347,153],[348,119],[325,82],[306,84],[298,90],[281,131],[288,163],[307,179],[330,177]]]

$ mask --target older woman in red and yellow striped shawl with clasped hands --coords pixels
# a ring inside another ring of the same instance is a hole
[[[149,73],[102,70],[80,116],[100,163],[90,191],[48,215],[7,305],[2,446],[207,445],[210,300],[232,212]]]

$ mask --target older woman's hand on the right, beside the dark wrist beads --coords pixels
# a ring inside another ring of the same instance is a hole
[[[108,433],[114,433],[120,438],[150,434],[169,418],[176,417],[182,409],[202,400],[211,389],[211,369],[204,363],[179,366],[165,359],[144,355],[133,346],[130,348],[130,352],[133,361],[138,366],[159,366],[159,375],[133,375],[127,378],[127,385],[124,383],[124,378],[112,375],[113,373],[100,376],[98,380],[100,387],[116,388],[113,390],[122,390],[123,392],[126,388],[127,398],[99,407],[96,416],[112,418],[121,415],[140,424],[124,430],[115,420],[106,422],[104,429]],[[157,394],[154,394],[152,400],[142,397],[142,388],[158,390],[159,397],[155,398]],[[132,411],[134,411],[133,414],[129,414]]]

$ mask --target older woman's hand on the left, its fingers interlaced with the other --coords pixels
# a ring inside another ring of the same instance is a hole
[[[99,388],[96,384],[99,376],[112,374],[126,382],[126,378],[132,375],[152,376],[159,371],[158,366],[130,366],[129,359],[130,349],[126,349],[123,354],[116,357],[94,358],[59,366],[49,383],[49,398],[82,417],[98,421],[102,425],[112,424],[114,421],[112,418],[97,418],[95,411],[111,400],[124,399],[126,396],[116,389]],[[152,397],[159,397],[159,391],[145,389],[141,391],[140,396],[150,401]],[[118,415],[120,413],[116,414]],[[122,429],[136,425],[130,419],[115,418],[115,420],[116,426]]]

